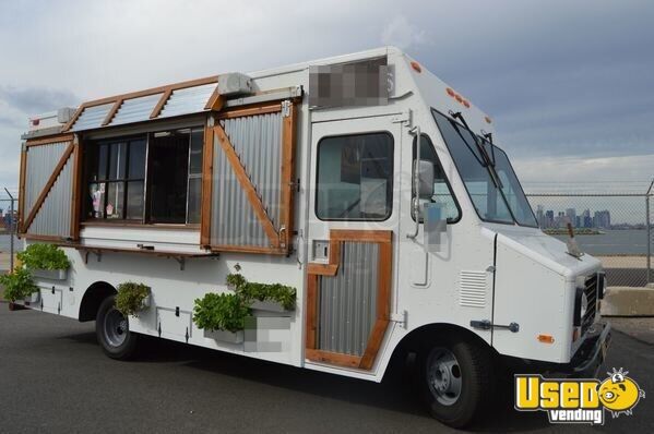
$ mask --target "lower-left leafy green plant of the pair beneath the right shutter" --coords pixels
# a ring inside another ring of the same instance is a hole
[[[205,330],[242,330],[250,309],[233,293],[210,292],[195,300],[193,322]]]

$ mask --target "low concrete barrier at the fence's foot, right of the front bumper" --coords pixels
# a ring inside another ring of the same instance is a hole
[[[610,287],[599,312],[602,316],[654,316],[654,288]]]

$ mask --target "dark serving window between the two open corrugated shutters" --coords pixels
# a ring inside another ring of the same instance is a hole
[[[198,224],[203,129],[85,146],[87,219]]]

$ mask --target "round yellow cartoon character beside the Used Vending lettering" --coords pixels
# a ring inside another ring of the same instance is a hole
[[[631,414],[633,408],[641,398],[645,397],[645,391],[640,388],[638,383],[627,376],[629,371],[607,372],[606,378],[599,385],[599,400],[610,412],[614,418],[620,413]]]

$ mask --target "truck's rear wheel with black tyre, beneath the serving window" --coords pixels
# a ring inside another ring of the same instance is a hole
[[[116,296],[107,297],[97,311],[95,334],[105,354],[116,360],[133,359],[139,336],[130,331],[129,318],[115,306]]]

